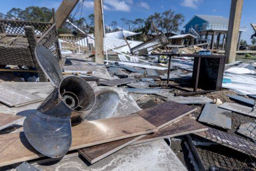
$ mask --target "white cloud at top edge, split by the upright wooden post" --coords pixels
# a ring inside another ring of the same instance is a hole
[[[127,3],[133,3],[132,0],[126,0]],[[125,11],[129,12],[131,10],[131,7],[127,5],[124,1],[118,1],[118,0],[105,0],[103,1],[103,8],[104,10],[110,10],[110,11]],[[93,8],[94,2],[93,1],[84,1],[84,6],[87,8]]]

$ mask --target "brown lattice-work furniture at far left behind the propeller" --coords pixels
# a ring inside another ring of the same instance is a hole
[[[40,81],[47,81],[35,58],[39,44],[61,62],[58,33],[53,23],[0,20],[0,65],[35,67]]]

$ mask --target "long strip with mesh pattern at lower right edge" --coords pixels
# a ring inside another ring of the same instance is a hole
[[[236,151],[256,157],[256,146],[255,143],[253,142],[248,142],[246,140],[229,135],[222,131],[212,129],[211,127],[209,127],[208,131],[203,131],[194,134],[206,138],[210,141],[217,142],[229,148],[235,149]]]

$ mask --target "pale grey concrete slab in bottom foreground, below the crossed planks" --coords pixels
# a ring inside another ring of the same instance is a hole
[[[164,140],[127,146],[120,151],[90,164],[73,157],[58,163],[34,165],[40,170],[187,170]]]

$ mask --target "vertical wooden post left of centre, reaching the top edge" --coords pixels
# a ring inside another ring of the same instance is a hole
[[[103,18],[101,0],[94,0],[94,37],[95,37],[95,62],[104,63],[103,55]]]

